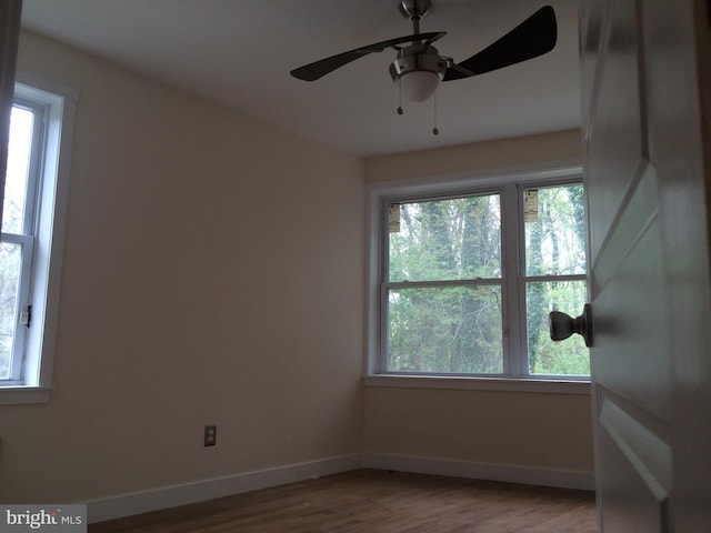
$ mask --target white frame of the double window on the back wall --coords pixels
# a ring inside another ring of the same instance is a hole
[[[567,394],[589,394],[590,379],[578,376],[542,376],[528,375],[525,330],[525,309],[521,305],[513,312],[504,313],[502,326],[510,334],[504,335],[504,374],[408,374],[385,371],[385,358],[382,346],[383,324],[387,320],[382,309],[381,278],[383,268],[384,241],[387,239],[383,217],[383,205],[390,200],[427,199],[445,195],[468,195],[487,192],[501,194],[502,220],[502,273],[511,265],[503,262],[518,263],[514,269],[522,272],[524,258],[523,235],[518,230],[520,207],[517,187],[547,187],[582,182],[582,167],[578,162],[565,162],[555,167],[530,168],[523,170],[500,171],[487,174],[439,177],[439,179],[404,180],[394,183],[374,183],[368,188],[368,296],[367,296],[367,345],[363,383],[369,386],[404,386],[428,389],[465,389],[465,390],[500,390],[521,392],[553,392]],[[513,205],[512,205],[513,202]],[[513,207],[514,209],[511,209]],[[510,220],[514,218],[515,220]],[[515,228],[515,232],[511,231]],[[508,231],[508,234],[507,234]],[[580,276],[555,276],[557,279]],[[583,276],[585,278],[585,276]],[[503,276],[502,298],[508,302],[507,294],[517,291],[521,304],[525,291],[527,279],[523,275]],[[523,322],[522,322],[523,321]]]

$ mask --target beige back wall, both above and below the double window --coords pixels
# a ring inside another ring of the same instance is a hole
[[[367,161],[368,182],[580,164],[579,131]],[[589,395],[367,388],[363,451],[591,473]]]

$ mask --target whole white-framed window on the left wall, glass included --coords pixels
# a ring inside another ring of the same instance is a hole
[[[76,94],[18,74],[0,240],[0,404],[47,401]]]

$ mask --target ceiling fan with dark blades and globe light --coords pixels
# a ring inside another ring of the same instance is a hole
[[[452,58],[440,56],[432,46],[445,31],[420,33],[420,21],[432,7],[431,0],[402,0],[399,9],[412,22],[413,34],[398,37],[367,47],[357,48],[304,64],[291,71],[291,76],[304,81],[316,81],[351,61],[388,48],[398,51],[390,66],[390,76],[409,100],[421,102],[437,91],[440,81],[459,80],[502,69],[550,51],[555,46],[558,27],[553,8],[545,6],[525,19],[513,30],[471,58],[455,63]],[[408,46],[402,46],[407,44]],[[402,109],[398,109],[402,113]]]

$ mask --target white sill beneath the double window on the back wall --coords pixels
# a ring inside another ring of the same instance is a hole
[[[398,389],[449,389],[460,391],[590,394],[589,380],[537,380],[461,376],[445,378],[439,375],[371,374],[363,376],[363,385]]]

